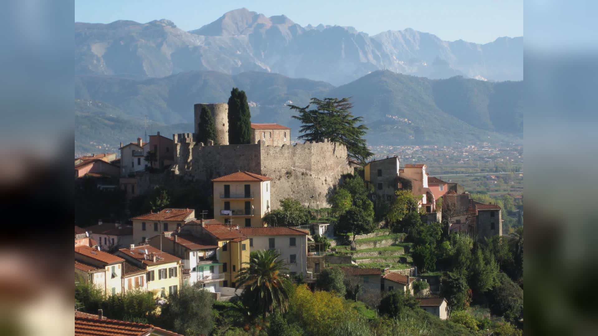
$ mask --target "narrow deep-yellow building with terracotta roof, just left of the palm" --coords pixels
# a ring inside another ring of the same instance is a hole
[[[217,242],[216,258],[222,264],[221,273],[224,273],[219,286],[234,288],[237,274],[246,266],[244,263],[249,262],[249,239],[236,225],[204,224],[202,228]]]

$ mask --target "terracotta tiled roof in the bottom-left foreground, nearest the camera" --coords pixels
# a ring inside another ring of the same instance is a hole
[[[141,336],[150,332],[182,336],[149,324],[75,316],[75,336]]]

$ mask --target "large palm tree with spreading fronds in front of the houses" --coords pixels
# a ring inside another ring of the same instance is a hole
[[[280,253],[263,250],[252,253],[247,267],[237,275],[237,289],[245,286],[242,300],[246,307],[257,311],[265,318],[274,310],[285,313],[289,308],[289,294],[292,285],[289,279],[280,275],[286,271],[283,259],[277,260]]]

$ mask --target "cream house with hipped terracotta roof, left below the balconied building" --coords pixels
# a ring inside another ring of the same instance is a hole
[[[157,234],[175,231],[195,219],[193,209],[163,209],[157,213],[133,217],[133,244],[144,243]]]

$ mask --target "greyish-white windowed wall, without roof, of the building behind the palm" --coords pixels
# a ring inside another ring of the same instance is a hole
[[[269,249],[269,239],[274,238],[274,249],[280,253],[280,258],[284,259],[286,263],[289,262],[291,254],[297,255],[296,264],[289,264],[289,272],[303,273],[307,276],[307,236],[304,234],[294,235],[276,235],[276,236],[251,236],[253,239],[253,246],[249,246],[249,251],[267,250]],[[295,238],[295,246],[289,246],[289,238]]]

